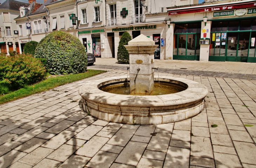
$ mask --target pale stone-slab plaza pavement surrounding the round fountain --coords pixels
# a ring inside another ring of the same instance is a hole
[[[194,80],[209,93],[193,118],[139,126],[82,110],[81,85],[127,75],[129,65],[115,62],[97,58],[88,69],[108,72],[0,105],[0,168],[256,168],[255,63],[155,61],[159,76]]]

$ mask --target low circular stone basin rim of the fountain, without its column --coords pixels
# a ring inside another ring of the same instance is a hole
[[[127,80],[127,77],[121,76],[86,82],[79,88],[79,94],[83,98],[83,109],[96,118],[115,123],[164,124],[184,120],[200,113],[208,93],[207,87],[200,83],[167,76],[156,80],[179,84],[187,89],[155,96],[122,95],[99,89],[103,85]]]

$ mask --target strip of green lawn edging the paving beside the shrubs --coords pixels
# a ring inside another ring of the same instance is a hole
[[[72,83],[78,80],[89,78],[103,72],[106,72],[106,71],[88,69],[84,73],[77,73],[77,74],[70,74],[70,75],[64,75],[64,76],[57,76],[54,78],[48,78],[43,80],[40,83],[29,85],[22,89],[11,92],[9,94],[0,96],[0,104],[10,102],[12,100],[16,100],[19,98],[23,98],[26,96],[30,96],[35,93],[47,91],[47,90],[53,89],[54,87],[65,85],[67,83]]]

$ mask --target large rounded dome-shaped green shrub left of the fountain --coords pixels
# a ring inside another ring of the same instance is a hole
[[[36,58],[46,59],[46,69],[53,75],[81,73],[87,69],[85,47],[75,36],[54,31],[44,37],[35,50]]]

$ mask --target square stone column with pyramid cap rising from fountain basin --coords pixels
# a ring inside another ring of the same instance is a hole
[[[150,95],[154,91],[154,52],[158,45],[141,34],[124,45],[130,59],[130,94]]]

